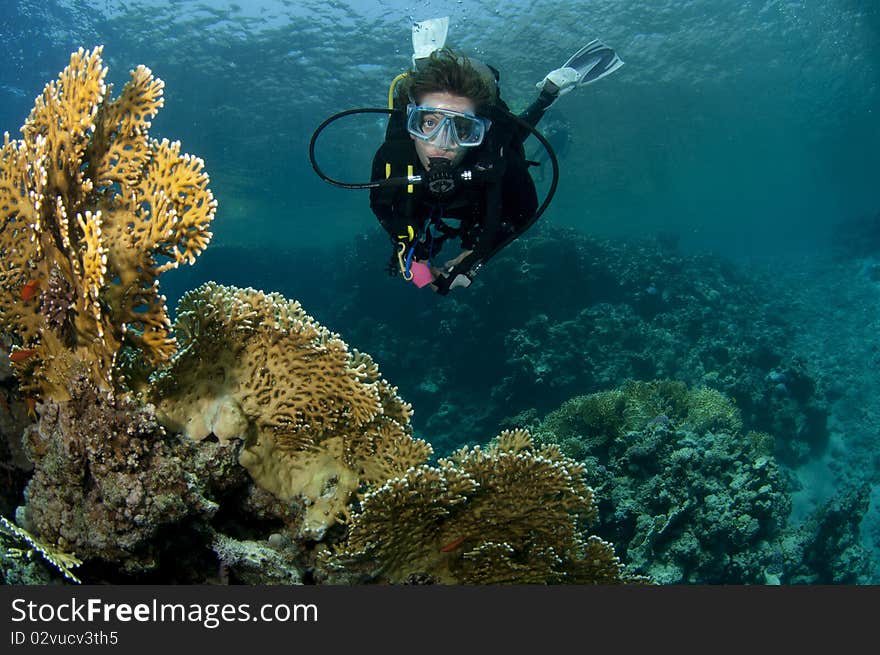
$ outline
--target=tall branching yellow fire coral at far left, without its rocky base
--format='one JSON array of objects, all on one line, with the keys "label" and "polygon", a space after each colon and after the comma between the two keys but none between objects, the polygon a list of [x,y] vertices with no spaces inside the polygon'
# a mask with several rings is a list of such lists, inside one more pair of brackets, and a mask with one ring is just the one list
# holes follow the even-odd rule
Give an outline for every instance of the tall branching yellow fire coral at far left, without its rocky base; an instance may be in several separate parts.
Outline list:
[{"label": "tall branching yellow fire coral at far left, without its rocky base", "polygon": [[216,210],[203,162],[149,138],[163,82],[139,66],[111,99],[101,51],[73,53],[0,149],[0,329],[24,390],[56,400],[74,371],[112,388],[125,343],[171,356],[158,276],[195,261]]}]

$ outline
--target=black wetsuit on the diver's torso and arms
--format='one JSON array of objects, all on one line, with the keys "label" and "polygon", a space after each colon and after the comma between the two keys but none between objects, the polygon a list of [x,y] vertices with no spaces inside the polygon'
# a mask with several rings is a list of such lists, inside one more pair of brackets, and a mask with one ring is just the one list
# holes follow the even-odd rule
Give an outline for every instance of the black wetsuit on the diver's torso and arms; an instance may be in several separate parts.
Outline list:
[{"label": "black wetsuit on the diver's torso and arms", "polygon": [[[542,94],[520,118],[535,126],[553,99]],[[506,110],[506,105],[500,104]],[[538,197],[523,148],[530,132],[503,112],[494,111],[488,117],[492,127],[485,141],[469,148],[456,170],[488,169],[491,174],[460,182],[450,196],[442,198],[423,184],[410,189],[371,189],[370,208],[395,247],[401,241],[406,242],[407,250],[414,245],[415,257],[424,260],[435,257],[445,240],[457,237],[463,249],[474,251],[457,268],[459,272],[473,271],[475,265],[488,261],[531,225]],[[405,120],[405,111],[392,113],[385,142],[373,158],[372,181],[406,176],[408,166],[414,175],[426,174]],[[409,227],[415,235],[412,242]]]}]

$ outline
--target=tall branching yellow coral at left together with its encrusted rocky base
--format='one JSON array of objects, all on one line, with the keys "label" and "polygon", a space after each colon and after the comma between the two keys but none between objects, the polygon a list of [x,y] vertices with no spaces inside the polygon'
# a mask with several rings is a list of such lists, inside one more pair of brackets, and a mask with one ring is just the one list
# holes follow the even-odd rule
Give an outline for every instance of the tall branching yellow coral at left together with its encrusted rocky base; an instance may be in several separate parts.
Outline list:
[{"label": "tall branching yellow coral at left together with its encrusted rocky base", "polygon": [[4,394],[2,425],[9,463],[33,465],[22,529],[142,571],[163,527],[216,505],[119,364],[174,351],[158,278],[205,249],[216,202],[200,159],[150,138],[162,81],[140,66],[113,99],[101,52],[73,53],[0,150],[0,336],[16,398],[39,415],[22,439]]}]

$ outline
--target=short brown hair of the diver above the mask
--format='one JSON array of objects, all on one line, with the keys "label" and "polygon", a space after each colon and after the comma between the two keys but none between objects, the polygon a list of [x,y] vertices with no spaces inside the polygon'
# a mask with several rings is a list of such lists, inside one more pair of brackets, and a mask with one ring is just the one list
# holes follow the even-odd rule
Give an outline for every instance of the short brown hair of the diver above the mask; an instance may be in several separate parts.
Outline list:
[{"label": "short brown hair of the diver above the mask", "polygon": [[405,106],[410,98],[421,103],[427,94],[442,92],[469,98],[478,112],[498,99],[498,87],[489,67],[450,48],[435,50],[428,61],[412,71],[401,82],[399,99]]}]

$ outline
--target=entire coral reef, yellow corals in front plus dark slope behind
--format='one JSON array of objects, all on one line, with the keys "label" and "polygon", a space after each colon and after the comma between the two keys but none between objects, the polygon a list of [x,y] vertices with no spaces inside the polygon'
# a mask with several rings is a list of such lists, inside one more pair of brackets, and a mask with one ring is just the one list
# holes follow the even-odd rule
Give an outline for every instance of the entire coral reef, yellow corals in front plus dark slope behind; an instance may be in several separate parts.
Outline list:
[{"label": "entire coral reef, yellow corals in front plus dark slope behind", "polygon": [[[348,343],[247,281],[182,294],[172,326],[159,276],[205,249],[216,203],[202,162],[148,135],[161,81],[139,67],[113,100],[100,55],[74,53],[0,150],[5,582],[866,579],[867,487],[785,529],[774,453],[824,449],[822,381],[716,260],[539,230],[487,269],[504,294],[440,317],[342,280],[326,324]],[[428,463],[380,361],[448,457]],[[681,381],[612,388],[656,377]],[[461,447],[505,418],[532,432]]]}]

